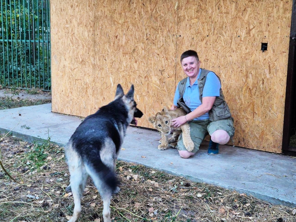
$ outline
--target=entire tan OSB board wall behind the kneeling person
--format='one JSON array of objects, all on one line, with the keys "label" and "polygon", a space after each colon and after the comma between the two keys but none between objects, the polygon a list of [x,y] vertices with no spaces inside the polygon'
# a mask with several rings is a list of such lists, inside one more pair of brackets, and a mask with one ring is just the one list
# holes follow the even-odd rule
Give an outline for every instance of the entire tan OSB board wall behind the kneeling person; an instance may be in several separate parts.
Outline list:
[{"label": "entire tan OSB board wall behind the kneeling person", "polygon": [[194,49],[222,80],[235,145],[281,152],[292,0],[50,4],[52,111],[87,116],[133,83],[139,125],[151,127],[184,78],[180,54]]}]

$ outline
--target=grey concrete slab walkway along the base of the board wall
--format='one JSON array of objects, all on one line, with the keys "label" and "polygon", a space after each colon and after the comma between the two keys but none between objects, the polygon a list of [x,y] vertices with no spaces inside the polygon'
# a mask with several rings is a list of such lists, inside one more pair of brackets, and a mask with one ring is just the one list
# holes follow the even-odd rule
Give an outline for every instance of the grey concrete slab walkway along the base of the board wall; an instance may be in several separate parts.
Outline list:
[{"label": "grey concrete slab walkway along the base of the board wall", "polygon": [[[51,104],[0,110],[0,132],[27,141],[64,145],[82,119],[51,112]],[[140,163],[194,182],[205,182],[246,193],[273,204],[296,206],[296,158],[220,145],[217,156],[207,154],[204,141],[197,154],[180,158],[176,149],[158,150],[160,135],[129,127],[119,159]]]}]

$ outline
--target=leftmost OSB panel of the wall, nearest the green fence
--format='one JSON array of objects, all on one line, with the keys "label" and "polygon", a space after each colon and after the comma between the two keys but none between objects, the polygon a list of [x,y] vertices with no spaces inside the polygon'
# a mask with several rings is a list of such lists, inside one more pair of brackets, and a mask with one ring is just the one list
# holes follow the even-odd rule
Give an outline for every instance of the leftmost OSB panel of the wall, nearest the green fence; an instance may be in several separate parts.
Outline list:
[{"label": "leftmost OSB panel of the wall, nearest the green fence", "polygon": [[89,113],[94,73],[94,1],[50,1],[52,111]]}]

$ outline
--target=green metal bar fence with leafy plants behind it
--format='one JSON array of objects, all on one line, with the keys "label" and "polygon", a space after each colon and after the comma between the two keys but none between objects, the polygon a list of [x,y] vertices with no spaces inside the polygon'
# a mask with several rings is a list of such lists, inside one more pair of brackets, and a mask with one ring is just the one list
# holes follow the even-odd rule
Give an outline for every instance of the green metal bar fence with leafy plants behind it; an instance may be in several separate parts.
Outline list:
[{"label": "green metal bar fence with leafy plants behind it", "polygon": [[0,85],[50,91],[50,1],[0,2]]}]

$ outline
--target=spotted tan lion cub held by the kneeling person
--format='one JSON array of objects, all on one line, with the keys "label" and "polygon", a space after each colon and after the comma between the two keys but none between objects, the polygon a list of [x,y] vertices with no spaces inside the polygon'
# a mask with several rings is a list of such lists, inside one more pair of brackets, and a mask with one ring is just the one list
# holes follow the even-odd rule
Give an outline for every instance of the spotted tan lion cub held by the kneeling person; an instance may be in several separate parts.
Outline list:
[{"label": "spotted tan lion cub held by the kneeling person", "polygon": [[[193,141],[190,137],[190,126],[186,122],[178,128],[171,127],[172,119],[177,118],[179,116],[184,116],[187,113],[182,108],[178,108],[176,110],[168,110],[166,107],[163,108],[162,111],[156,113],[155,116],[150,116],[148,121],[153,124],[153,127],[161,132],[160,145],[158,145],[158,149],[164,150],[167,149],[168,146],[172,146],[176,148],[178,137],[183,132],[183,143],[185,148],[191,152],[194,148]],[[171,133],[171,130],[175,130],[173,135],[168,139],[167,135]]]}]

